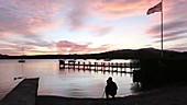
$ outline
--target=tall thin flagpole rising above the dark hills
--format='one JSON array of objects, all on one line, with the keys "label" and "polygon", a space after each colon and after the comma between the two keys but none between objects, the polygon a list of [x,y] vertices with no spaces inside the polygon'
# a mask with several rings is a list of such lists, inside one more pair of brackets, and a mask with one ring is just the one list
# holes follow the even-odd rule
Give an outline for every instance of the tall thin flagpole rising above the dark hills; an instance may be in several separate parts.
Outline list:
[{"label": "tall thin flagpole rising above the dark hills", "polygon": [[163,0],[161,1],[162,2],[162,11],[161,11],[161,57],[163,58],[163,56],[164,56],[164,46],[163,46],[163,36],[164,36],[164,34],[163,34],[163,32],[164,32],[164,23],[163,23],[163,16],[164,16],[164,13],[163,13]]}]

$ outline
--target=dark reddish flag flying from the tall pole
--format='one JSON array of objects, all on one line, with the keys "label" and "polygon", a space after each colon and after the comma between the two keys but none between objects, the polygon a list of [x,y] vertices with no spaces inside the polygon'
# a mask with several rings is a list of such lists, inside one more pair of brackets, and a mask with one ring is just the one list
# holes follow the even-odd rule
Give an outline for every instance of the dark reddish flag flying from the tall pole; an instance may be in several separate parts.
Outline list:
[{"label": "dark reddish flag flying from the tall pole", "polygon": [[150,8],[148,11],[146,12],[146,14],[148,15],[148,14],[152,14],[154,12],[162,12],[162,2],[157,3],[153,8]]}]

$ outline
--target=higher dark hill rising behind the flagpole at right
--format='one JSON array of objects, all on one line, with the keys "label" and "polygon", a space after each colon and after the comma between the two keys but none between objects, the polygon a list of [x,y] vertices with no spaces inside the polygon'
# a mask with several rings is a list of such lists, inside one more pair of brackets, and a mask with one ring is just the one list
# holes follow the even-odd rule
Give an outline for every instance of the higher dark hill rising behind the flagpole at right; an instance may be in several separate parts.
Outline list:
[{"label": "higher dark hill rising behind the flagpole at right", "polygon": [[[184,58],[186,52],[178,52],[173,50],[164,50],[165,58]],[[161,58],[161,50],[155,48],[142,48],[142,49],[121,49],[112,50],[96,56],[111,59],[140,59],[140,58]]]}]

